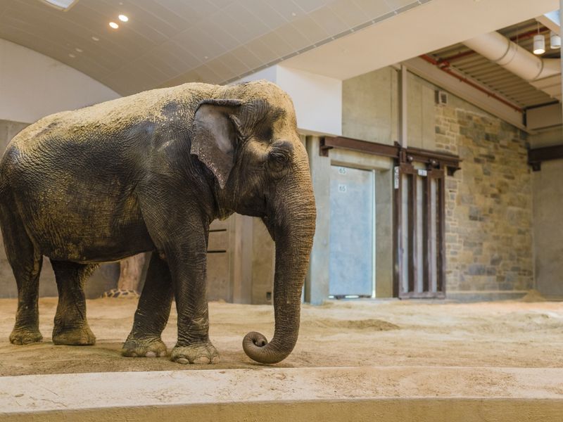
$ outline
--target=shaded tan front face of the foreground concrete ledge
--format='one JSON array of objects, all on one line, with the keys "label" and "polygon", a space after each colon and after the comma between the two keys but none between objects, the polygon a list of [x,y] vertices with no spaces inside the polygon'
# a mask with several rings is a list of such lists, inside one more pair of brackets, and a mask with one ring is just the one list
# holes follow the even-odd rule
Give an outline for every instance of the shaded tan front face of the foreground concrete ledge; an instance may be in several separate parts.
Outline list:
[{"label": "shaded tan front face of the foreground concrete ledge", "polygon": [[[522,399],[377,399],[115,407],[2,416],[2,421],[560,422],[563,405]],[[1,416],[1,414],[0,414]]]}]

